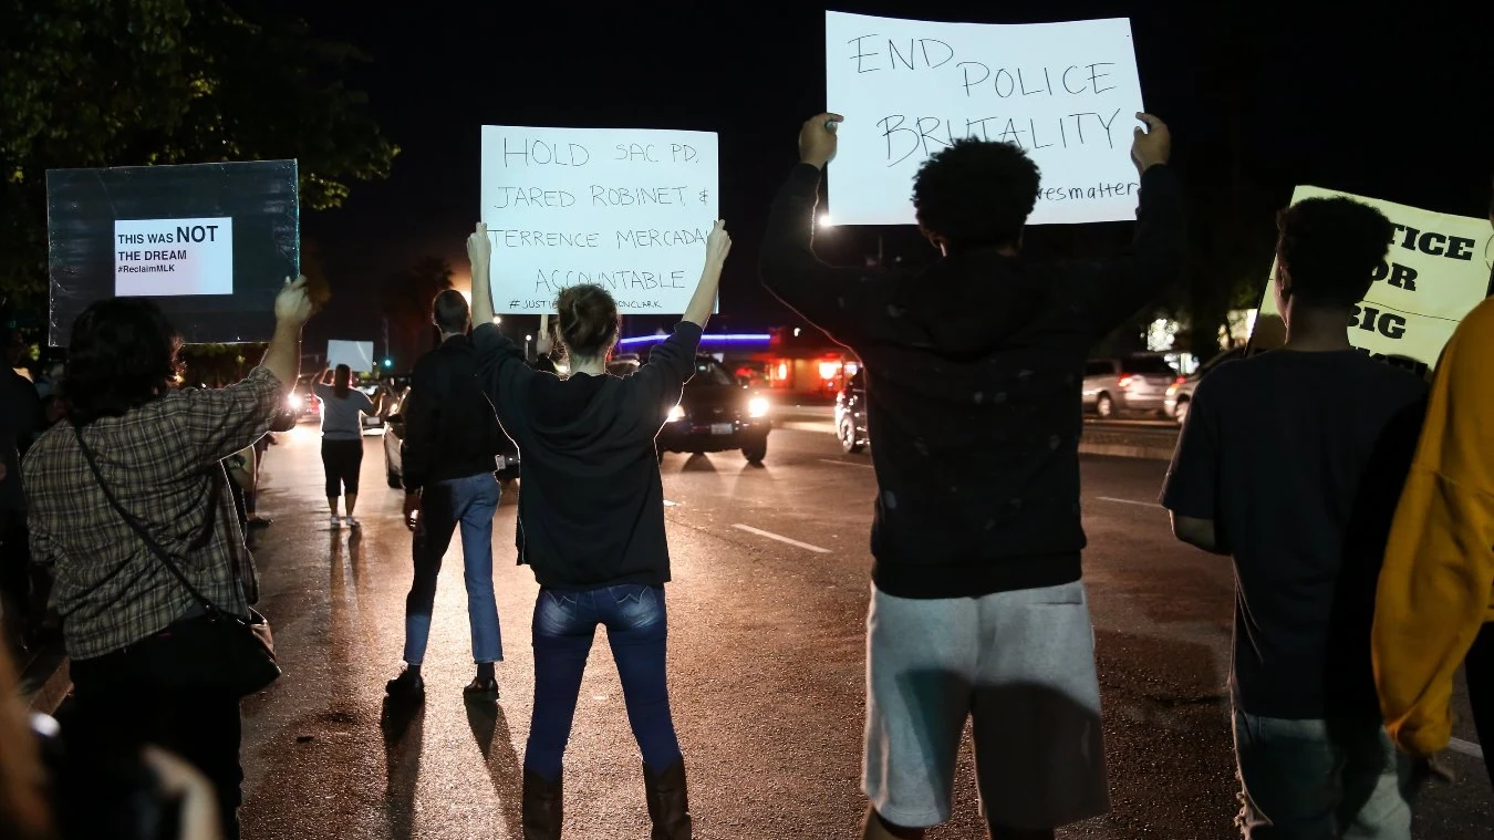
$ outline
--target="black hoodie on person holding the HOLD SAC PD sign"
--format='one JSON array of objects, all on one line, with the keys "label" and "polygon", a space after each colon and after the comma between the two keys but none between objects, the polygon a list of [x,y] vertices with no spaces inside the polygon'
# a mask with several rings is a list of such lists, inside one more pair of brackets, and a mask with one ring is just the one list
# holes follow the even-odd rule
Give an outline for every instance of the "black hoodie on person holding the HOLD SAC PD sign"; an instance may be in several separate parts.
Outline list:
[{"label": "black hoodie on person holding the HOLD SAC PD sign", "polygon": [[695,374],[701,327],[681,321],[624,378],[535,371],[493,324],[472,341],[478,381],[523,460],[518,562],[548,589],[666,583],[654,438]]}]

